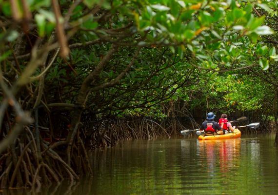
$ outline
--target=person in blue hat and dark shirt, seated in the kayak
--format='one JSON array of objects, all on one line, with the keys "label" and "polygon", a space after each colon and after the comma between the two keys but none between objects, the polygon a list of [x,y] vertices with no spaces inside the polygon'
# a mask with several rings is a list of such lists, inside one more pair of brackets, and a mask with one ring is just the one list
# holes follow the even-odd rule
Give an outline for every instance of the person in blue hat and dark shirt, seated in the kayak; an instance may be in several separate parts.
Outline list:
[{"label": "person in blue hat and dark shirt, seated in the kayak", "polygon": [[210,112],[207,114],[207,120],[204,121],[200,127],[200,131],[205,131],[205,136],[223,135],[221,126],[214,121],[215,114]]}]

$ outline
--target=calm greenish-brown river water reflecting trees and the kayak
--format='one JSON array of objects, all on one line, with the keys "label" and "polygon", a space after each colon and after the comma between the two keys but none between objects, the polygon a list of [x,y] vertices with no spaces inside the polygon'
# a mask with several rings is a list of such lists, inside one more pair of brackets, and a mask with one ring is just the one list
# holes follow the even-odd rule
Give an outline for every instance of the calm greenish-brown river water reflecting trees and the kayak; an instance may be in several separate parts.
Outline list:
[{"label": "calm greenish-brown river water reflecting trees and the kayak", "polygon": [[277,195],[274,135],[199,141],[196,138],[125,141],[91,154],[94,177],[40,194]]}]

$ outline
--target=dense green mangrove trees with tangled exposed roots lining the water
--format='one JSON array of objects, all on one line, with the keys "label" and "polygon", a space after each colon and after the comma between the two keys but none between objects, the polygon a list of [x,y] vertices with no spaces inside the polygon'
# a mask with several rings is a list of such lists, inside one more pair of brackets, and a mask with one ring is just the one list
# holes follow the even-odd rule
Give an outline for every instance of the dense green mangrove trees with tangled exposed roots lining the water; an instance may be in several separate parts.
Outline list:
[{"label": "dense green mangrove trees with tangled exposed roots lining the water", "polygon": [[0,5],[1,188],[93,176],[88,150],[178,138],[211,111],[277,128],[275,0]]}]

